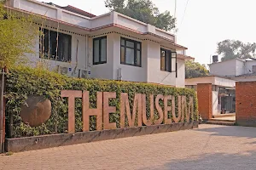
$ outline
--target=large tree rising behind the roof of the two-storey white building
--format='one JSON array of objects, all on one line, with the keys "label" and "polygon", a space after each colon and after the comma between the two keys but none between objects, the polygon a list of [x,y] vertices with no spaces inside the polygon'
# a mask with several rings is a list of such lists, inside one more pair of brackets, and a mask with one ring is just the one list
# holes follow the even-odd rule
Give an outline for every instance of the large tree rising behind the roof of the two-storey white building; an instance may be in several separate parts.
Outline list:
[{"label": "large tree rising behind the roof of the two-storey white building", "polygon": [[151,0],[106,0],[105,4],[111,11],[125,14],[160,29],[171,31],[176,28],[176,19],[170,12],[160,13]]}]

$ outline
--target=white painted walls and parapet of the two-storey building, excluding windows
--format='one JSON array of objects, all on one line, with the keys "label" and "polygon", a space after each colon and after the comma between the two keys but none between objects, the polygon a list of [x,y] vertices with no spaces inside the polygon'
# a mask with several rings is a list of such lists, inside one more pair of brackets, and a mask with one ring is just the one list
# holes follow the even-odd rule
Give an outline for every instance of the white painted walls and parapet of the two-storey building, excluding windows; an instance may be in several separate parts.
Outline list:
[{"label": "white painted walls and parapet of the two-storey building, excluding windows", "polygon": [[[63,10],[61,8],[56,8],[54,6],[40,3],[34,0],[11,0],[14,8],[20,8],[22,10],[34,13],[41,14],[46,17],[49,17],[54,20],[61,20],[75,26],[67,26],[66,28],[61,27],[64,30],[68,31],[80,31],[77,33],[82,34],[95,34],[95,29],[101,26],[110,26],[110,24],[117,24],[119,26],[124,26],[125,28],[138,31],[137,33],[133,33],[136,36],[140,36],[143,39],[156,39],[155,41],[165,41],[160,37],[166,37],[170,39],[170,41],[175,41],[175,36],[172,34],[157,29],[154,26],[147,25],[138,20],[131,19],[123,14],[118,14],[115,12],[109,14],[102,14],[101,16],[96,16],[93,18],[84,17],[79,14],[74,14],[72,12]],[[53,21],[54,23],[54,21]],[[63,24],[65,25],[65,23]],[[84,28],[90,28],[90,31],[79,30],[76,26],[81,26]],[[109,31],[109,30],[108,30]],[[131,34],[131,31],[120,30],[124,34]],[[143,33],[148,34],[151,32],[153,34],[158,35],[159,37],[147,36],[143,35]],[[66,33],[66,32],[63,32]],[[85,69],[86,65],[86,42],[85,37],[77,36],[75,34],[72,35],[72,62],[71,63],[63,63],[52,60],[47,60],[51,67],[55,65],[62,65],[67,67],[74,67],[78,64],[79,69]],[[125,36],[124,36],[125,37]],[[131,37],[128,37],[132,39]],[[79,52],[78,58],[76,61],[76,48],[77,48],[77,40],[79,40]],[[135,39],[136,40],[136,39]],[[169,42],[170,42],[169,41]],[[165,45],[167,47],[172,46],[168,41],[166,41]],[[30,59],[35,59],[34,63],[39,59],[39,42],[35,43],[35,54],[30,54]],[[173,47],[173,46],[172,46]],[[125,81],[132,82],[155,82],[166,85],[175,86],[177,82],[178,87],[183,87],[184,83],[184,65],[183,61],[178,59],[177,67],[178,67],[178,78],[176,78],[175,72],[167,72],[160,71],[160,43],[152,42],[149,40],[145,40],[142,42],[142,67],[131,66],[131,65],[121,65],[120,64],[120,36],[119,34],[111,33],[107,36],[107,64],[101,65],[93,65],[92,62],[92,38],[89,38],[89,71],[91,73],[91,77],[102,78],[102,79],[117,79],[118,69],[121,68],[122,77]]]}]

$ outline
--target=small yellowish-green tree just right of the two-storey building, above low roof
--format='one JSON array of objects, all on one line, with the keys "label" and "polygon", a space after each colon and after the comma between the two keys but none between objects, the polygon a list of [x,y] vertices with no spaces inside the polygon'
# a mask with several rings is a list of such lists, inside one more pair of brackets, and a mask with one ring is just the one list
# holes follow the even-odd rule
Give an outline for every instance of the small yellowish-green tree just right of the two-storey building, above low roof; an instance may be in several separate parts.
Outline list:
[{"label": "small yellowish-green tree just right of the two-storey building, above low roof", "polygon": [[209,74],[206,65],[201,65],[195,61],[186,61],[185,75],[186,78],[206,77]]}]

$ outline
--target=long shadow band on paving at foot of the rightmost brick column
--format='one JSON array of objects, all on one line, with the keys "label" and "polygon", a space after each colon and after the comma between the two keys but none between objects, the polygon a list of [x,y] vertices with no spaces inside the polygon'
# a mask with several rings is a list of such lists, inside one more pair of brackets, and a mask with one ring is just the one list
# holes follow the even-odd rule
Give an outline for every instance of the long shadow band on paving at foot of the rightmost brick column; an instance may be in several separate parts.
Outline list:
[{"label": "long shadow band on paving at foot of the rightmost brick column", "polygon": [[[220,126],[193,129],[193,131],[207,132],[214,136],[233,136],[253,139],[256,138],[255,127]],[[255,168],[256,169],[256,168]]]}]

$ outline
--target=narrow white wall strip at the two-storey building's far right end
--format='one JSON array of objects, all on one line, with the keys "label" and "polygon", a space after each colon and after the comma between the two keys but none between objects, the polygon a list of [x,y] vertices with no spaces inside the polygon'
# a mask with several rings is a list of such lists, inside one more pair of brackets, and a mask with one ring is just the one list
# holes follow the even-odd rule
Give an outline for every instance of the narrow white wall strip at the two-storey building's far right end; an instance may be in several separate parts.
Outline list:
[{"label": "narrow white wall strip at the two-storey building's far right end", "polygon": [[185,87],[185,61],[183,59],[177,59],[176,87]]}]

